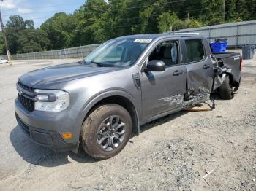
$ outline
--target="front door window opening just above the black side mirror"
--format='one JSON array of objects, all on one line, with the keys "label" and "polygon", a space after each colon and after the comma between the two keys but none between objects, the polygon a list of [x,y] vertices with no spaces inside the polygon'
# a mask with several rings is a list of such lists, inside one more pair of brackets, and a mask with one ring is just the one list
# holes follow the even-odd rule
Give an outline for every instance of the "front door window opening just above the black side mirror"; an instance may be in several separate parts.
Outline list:
[{"label": "front door window opening just above the black side mirror", "polygon": [[149,55],[148,61],[160,60],[165,66],[178,64],[178,42],[163,42],[159,44]]}]

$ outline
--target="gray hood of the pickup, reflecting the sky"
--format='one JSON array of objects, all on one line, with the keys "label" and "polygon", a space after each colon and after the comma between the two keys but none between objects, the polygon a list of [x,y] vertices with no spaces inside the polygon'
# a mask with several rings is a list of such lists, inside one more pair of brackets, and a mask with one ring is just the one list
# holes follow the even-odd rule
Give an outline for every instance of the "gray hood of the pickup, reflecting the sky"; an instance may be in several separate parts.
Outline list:
[{"label": "gray hood of the pickup, reflecting the sky", "polygon": [[80,63],[67,63],[30,71],[21,76],[19,80],[23,84],[34,88],[57,88],[62,83],[74,79],[91,77],[118,70],[120,69],[113,67],[93,67]]}]

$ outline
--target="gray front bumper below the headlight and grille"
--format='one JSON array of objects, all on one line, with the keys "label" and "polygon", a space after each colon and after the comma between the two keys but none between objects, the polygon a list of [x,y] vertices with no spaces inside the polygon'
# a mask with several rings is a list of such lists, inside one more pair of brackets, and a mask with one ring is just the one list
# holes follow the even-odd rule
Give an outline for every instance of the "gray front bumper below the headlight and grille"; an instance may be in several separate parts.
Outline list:
[{"label": "gray front bumper below the headlight and grille", "polygon": [[[42,114],[42,115],[39,115]],[[61,126],[65,123],[59,117],[47,117],[43,115],[43,112],[35,114],[26,112],[26,109],[16,99],[15,101],[15,117],[21,130],[29,137],[32,141],[45,147],[49,147],[56,152],[65,151],[78,151],[79,141],[66,140],[61,137],[61,133],[72,132],[66,126]],[[67,118],[67,117],[66,117]],[[66,123],[69,124],[69,123]],[[44,126],[45,125],[45,126]],[[67,129],[69,129],[67,131]],[[73,132],[72,132],[73,133]],[[74,132],[74,134],[77,134]]]}]

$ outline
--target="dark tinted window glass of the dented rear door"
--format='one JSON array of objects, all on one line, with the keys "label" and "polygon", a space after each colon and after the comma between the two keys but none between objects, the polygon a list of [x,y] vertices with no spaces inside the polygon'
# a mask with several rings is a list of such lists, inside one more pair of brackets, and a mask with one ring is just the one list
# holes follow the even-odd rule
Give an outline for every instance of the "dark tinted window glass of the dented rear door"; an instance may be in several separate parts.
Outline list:
[{"label": "dark tinted window glass of the dented rear door", "polygon": [[201,61],[205,58],[203,42],[200,39],[186,40],[188,63]]}]

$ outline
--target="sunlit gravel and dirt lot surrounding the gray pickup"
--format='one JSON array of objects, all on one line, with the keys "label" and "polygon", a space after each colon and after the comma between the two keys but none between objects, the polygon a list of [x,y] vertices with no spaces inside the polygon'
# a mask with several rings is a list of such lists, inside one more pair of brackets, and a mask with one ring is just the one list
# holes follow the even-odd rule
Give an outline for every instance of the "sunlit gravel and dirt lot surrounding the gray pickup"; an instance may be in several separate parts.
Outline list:
[{"label": "sunlit gravel and dirt lot surrounding the gray pickup", "polygon": [[0,190],[256,190],[256,60],[244,61],[233,100],[143,125],[121,154],[103,161],[40,147],[15,121],[18,77],[63,62],[0,65]]}]

